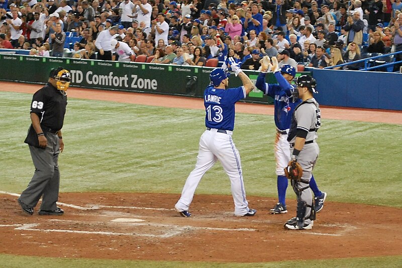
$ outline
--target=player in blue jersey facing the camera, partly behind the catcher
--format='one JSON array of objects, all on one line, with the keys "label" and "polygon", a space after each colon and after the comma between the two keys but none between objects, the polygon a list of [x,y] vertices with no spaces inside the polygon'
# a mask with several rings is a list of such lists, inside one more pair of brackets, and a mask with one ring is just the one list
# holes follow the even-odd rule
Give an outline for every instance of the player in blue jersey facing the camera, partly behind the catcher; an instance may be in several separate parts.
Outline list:
[{"label": "player in blue jersey facing the camera, partly behind the catcher", "polygon": [[[268,68],[274,72],[274,76],[278,81],[277,84],[268,84],[265,82],[265,74]],[[284,173],[284,168],[290,161],[290,145],[287,141],[290,123],[294,109],[302,100],[296,96],[297,89],[290,84],[296,74],[294,67],[285,64],[282,65],[280,72],[278,69],[278,61],[272,57],[272,64],[268,56],[265,56],[261,65],[261,72],[258,75],[256,86],[257,88],[274,100],[274,118],[276,125],[275,137],[275,159],[276,159],[276,175],[278,189],[278,203],[270,210],[271,214],[287,213],[285,197],[288,185],[287,178]],[[324,207],[324,201],[327,198],[327,193],[321,192],[317,186],[314,176],[310,181],[310,188],[314,192],[315,210],[319,212]]]}]

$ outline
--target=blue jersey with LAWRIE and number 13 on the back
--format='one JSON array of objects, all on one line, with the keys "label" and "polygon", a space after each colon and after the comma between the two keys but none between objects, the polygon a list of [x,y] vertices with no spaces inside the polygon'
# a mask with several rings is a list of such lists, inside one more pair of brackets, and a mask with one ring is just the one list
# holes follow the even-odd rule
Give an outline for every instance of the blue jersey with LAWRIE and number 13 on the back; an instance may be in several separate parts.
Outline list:
[{"label": "blue jersey with LAWRIE and number 13 on the back", "polygon": [[208,128],[231,130],[235,126],[235,104],[246,98],[244,86],[223,90],[207,86],[204,92],[205,125]]}]

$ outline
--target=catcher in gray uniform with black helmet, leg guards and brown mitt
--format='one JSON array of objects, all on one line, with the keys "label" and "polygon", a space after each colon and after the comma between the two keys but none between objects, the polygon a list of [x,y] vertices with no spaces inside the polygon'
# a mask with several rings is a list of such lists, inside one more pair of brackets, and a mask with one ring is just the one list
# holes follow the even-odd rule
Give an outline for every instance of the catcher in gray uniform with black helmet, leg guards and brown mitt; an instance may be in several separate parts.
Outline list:
[{"label": "catcher in gray uniform with black helmet, leg guards and brown mitt", "polygon": [[297,78],[297,96],[302,99],[294,110],[287,140],[292,150],[291,160],[285,167],[285,175],[290,180],[297,197],[296,217],[288,220],[285,229],[298,230],[313,228],[316,213],[310,191],[312,171],[316,164],[320,148],[316,142],[317,131],[321,126],[320,108],[313,94],[316,80],[310,75]]}]

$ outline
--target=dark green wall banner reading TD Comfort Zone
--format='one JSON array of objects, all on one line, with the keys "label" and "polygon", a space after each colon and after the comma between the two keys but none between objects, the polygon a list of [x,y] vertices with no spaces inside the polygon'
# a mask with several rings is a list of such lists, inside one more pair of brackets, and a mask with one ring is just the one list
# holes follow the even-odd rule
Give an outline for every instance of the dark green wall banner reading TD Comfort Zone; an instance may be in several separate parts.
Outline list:
[{"label": "dark green wall banner reading TD Comfort Zone", "polygon": [[[1,80],[44,83],[51,68],[62,66],[71,72],[72,86],[194,97],[204,95],[204,90],[210,83],[210,72],[213,70],[210,67],[26,55],[0,55],[0,63],[2,66],[8,66],[0,73]],[[246,73],[255,82],[258,73]],[[272,77],[269,79],[272,80]],[[230,77],[230,87],[241,84],[239,77],[234,74]],[[272,103],[271,98],[263,96],[257,89],[246,100]]]}]

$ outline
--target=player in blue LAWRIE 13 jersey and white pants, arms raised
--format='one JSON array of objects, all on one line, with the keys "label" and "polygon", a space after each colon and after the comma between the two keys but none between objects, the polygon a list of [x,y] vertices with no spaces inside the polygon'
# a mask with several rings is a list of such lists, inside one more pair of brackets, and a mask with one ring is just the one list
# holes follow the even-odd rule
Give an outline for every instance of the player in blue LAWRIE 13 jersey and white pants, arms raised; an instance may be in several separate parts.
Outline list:
[{"label": "player in blue LAWRIE 13 jersey and white pants, arms raised", "polygon": [[232,140],[235,124],[235,104],[246,98],[254,84],[240,69],[239,64],[230,59],[231,68],[239,75],[243,85],[236,88],[227,88],[230,73],[223,68],[215,68],[211,74],[211,84],[204,92],[204,106],[206,111],[205,125],[207,130],[199,139],[199,148],[195,168],[188,175],[181,197],[174,206],[183,217],[190,217],[188,207],[191,204],[195,189],[199,181],[217,160],[230,178],[235,216],[254,216],[257,212],[250,209],[246,199],[243,183],[243,172],[239,151]]}]

